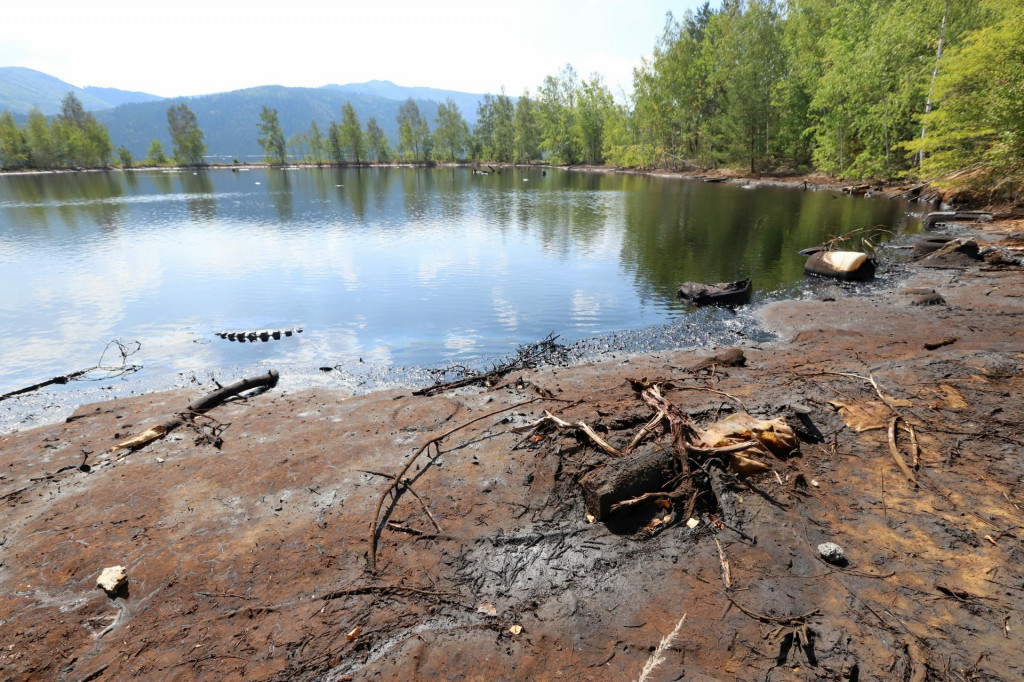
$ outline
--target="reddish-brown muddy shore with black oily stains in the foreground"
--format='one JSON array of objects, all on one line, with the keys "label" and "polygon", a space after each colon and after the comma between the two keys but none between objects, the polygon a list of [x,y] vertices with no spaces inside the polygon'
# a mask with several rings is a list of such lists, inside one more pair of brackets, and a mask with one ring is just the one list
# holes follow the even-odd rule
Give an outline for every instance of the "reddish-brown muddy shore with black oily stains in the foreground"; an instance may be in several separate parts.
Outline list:
[{"label": "reddish-brown muddy shore with black oily stains in the foreground", "polygon": [[[667,352],[435,397],[273,389],[211,413],[219,450],[182,428],[105,454],[200,390],[8,434],[0,677],[636,680],[659,653],[648,680],[1020,680],[1024,270],[923,265],[897,291],[769,306],[782,340],[740,368]],[[912,305],[919,288],[945,304]],[[784,416],[800,453],[702,498],[692,529],[682,504],[590,523],[578,480],[613,462],[579,432],[510,429],[549,410],[621,446],[652,414],[627,377],[671,379],[699,424]],[[887,425],[868,378],[914,426],[916,486],[884,428],[829,404]],[[385,500],[372,572],[381,474],[484,415]]]}]

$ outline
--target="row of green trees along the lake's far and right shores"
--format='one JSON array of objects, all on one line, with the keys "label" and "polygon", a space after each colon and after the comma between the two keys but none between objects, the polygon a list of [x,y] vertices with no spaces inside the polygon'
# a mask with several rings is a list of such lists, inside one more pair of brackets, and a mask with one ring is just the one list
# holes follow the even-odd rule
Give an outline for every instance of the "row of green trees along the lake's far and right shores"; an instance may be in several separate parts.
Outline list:
[{"label": "row of green trees along the lake's far and right shores", "polygon": [[[722,0],[668,15],[629,101],[571,66],[534,96],[487,94],[467,125],[447,99],[431,122],[410,98],[397,139],[351,103],[322,130],[286,138],[260,113],[266,161],[490,161],[819,170],[841,177],[936,177],[990,185],[1024,176],[1024,0]],[[203,163],[184,103],[168,110],[173,162]],[[392,147],[392,142],[394,146]],[[5,168],[110,163],[105,128],[73,95],[25,126],[0,116]],[[123,165],[131,165],[119,150]],[[158,140],[152,164],[170,163]]]}]

